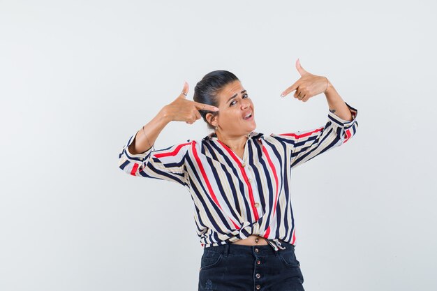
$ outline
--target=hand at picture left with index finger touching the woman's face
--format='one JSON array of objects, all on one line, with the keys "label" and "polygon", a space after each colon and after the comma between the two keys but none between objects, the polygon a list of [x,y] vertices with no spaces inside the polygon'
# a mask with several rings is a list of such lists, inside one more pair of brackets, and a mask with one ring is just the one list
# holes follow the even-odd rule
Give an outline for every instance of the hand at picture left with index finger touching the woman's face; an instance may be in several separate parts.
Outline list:
[{"label": "hand at picture left with index finger touching the woman's face", "polygon": [[196,120],[202,118],[198,110],[218,111],[218,108],[212,105],[198,103],[186,99],[188,94],[188,83],[184,83],[182,93],[172,103],[165,105],[165,115],[171,121],[185,121],[187,124],[193,124]]}]

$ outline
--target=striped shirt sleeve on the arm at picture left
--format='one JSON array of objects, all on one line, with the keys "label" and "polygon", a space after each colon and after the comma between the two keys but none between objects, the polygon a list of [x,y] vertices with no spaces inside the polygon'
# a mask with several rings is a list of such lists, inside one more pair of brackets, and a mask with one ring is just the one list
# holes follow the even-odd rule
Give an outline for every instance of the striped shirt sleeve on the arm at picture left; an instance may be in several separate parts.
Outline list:
[{"label": "striped shirt sleeve on the arm at picture left", "polygon": [[128,147],[134,138],[135,135],[132,135],[121,149],[119,154],[119,168],[121,170],[133,176],[162,179],[174,181],[184,186],[188,185],[185,156],[191,146],[189,140],[166,149],[156,150],[151,147],[141,154],[131,154]]}]

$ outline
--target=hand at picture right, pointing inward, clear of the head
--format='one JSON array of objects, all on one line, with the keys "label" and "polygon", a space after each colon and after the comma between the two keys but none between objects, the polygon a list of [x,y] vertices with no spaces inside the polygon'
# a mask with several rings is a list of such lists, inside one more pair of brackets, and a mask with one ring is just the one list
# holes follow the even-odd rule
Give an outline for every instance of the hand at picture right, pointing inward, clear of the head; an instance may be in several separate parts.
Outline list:
[{"label": "hand at picture right, pointing inward, clear of the head", "polygon": [[295,84],[292,84],[291,87],[288,87],[286,91],[283,91],[281,97],[284,97],[296,90],[295,98],[306,102],[309,98],[326,91],[327,86],[329,85],[329,81],[326,77],[316,76],[308,73],[300,65],[299,59],[296,61],[296,68],[300,74],[300,79],[297,80]]}]

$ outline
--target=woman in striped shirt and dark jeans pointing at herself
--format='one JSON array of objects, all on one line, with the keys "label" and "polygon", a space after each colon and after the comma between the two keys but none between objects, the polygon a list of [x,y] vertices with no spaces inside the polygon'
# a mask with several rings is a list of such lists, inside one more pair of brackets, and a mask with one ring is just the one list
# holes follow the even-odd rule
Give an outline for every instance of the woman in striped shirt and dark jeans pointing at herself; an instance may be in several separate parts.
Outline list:
[{"label": "woman in striped shirt and dark jeans pointing at herself", "polygon": [[[291,169],[337,147],[357,130],[357,110],[326,77],[306,72],[281,96],[295,91],[306,102],[324,93],[325,126],[297,133],[255,131],[255,108],[238,78],[213,71],[187,100],[188,84],[172,103],[129,138],[119,155],[128,174],[175,181],[191,193],[195,225],[204,248],[199,290],[304,290],[295,256]],[[170,121],[203,118],[214,132],[167,149],[154,142]]]}]

